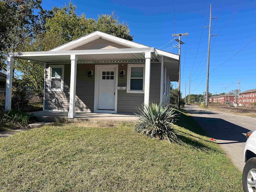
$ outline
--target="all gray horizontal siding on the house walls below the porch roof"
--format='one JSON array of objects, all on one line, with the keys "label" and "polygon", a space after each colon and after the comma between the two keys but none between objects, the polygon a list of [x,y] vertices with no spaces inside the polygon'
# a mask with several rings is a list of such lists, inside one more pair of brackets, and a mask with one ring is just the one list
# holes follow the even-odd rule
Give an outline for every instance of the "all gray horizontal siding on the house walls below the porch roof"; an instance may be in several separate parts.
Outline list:
[{"label": "all gray horizontal siding on the house walls below the porch roof", "polygon": [[[121,66],[124,65],[124,66]],[[46,65],[46,90],[45,110],[68,111],[70,98],[70,64],[64,64],[64,92],[48,91],[48,67]],[[92,77],[87,77],[89,70],[93,71]],[[120,70],[125,70],[124,77],[120,77]],[[151,64],[150,73],[150,101],[160,100],[160,63]],[[77,64],[76,79],[76,111],[94,112],[94,64]],[[127,64],[118,65],[118,86],[127,85]],[[56,103],[52,102],[56,99]],[[126,93],[126,90],[118,90],[117,112],[133,114],[136,106],[144,102],[144,93]]]}]

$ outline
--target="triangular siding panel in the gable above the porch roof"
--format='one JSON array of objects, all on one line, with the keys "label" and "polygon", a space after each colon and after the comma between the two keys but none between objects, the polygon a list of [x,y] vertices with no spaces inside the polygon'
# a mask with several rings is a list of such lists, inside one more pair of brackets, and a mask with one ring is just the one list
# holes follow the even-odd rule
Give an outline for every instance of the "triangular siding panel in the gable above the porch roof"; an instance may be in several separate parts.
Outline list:
[{"label": "triangular siding panel in the gable above the porch roof", "polygon": [[130,48],[130,47],[123,46],[108,40],[104,40],[102,38],[98,38],[92,42],[78,46],[71,50],[117,49],[117,48]]}]

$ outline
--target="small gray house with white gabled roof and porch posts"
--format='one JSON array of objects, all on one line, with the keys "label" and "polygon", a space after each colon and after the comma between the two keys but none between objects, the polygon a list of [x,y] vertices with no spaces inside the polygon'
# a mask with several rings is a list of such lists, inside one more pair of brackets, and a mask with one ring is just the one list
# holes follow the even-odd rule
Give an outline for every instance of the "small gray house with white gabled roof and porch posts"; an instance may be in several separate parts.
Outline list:
[{"label": "small gray house with white gabled roof and porch posts", "polygon": [[9,53],[6,110],[14,58],[44,66],[44,110],[68,111],[68,118],[169,103],[170,81],[178,81],[178,55],[96,31],[50,51]]}]

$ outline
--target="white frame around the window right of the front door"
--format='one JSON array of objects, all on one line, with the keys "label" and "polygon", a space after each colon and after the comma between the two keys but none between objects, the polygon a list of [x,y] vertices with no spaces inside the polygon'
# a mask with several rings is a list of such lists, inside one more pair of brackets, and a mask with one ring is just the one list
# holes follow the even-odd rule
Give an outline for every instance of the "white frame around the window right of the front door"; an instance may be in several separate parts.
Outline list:
[{"label": "white frame around the window right of the front door", "polygon": [[[143,86],[142,90],[130,90],[131,85],[131,68],[132,67],[143,67]],[[139,79],[139,78],[134,78]],[[127,89],[126,93],[144,93],[144,87],[145,87],[145,64],[128,64],[127,65]]]}]

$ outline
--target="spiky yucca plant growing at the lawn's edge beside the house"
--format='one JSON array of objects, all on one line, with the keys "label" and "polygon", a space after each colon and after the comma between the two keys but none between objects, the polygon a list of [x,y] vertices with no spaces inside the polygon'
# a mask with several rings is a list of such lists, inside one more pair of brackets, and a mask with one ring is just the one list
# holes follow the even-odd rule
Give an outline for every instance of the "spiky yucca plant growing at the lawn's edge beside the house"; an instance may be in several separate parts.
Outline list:
[{"label": "spiky yucca plant growing at the lawn's edge beside the house", "polygon": [[168,140],[169,142],[178,142],[178,136],[174,130],[173,122],[176,114],[170,104],[164,105],[150,102],[142,104],[136,108],[138,113],[138,122],[135,130],[140,134],[145,134],[152,138]]}]

